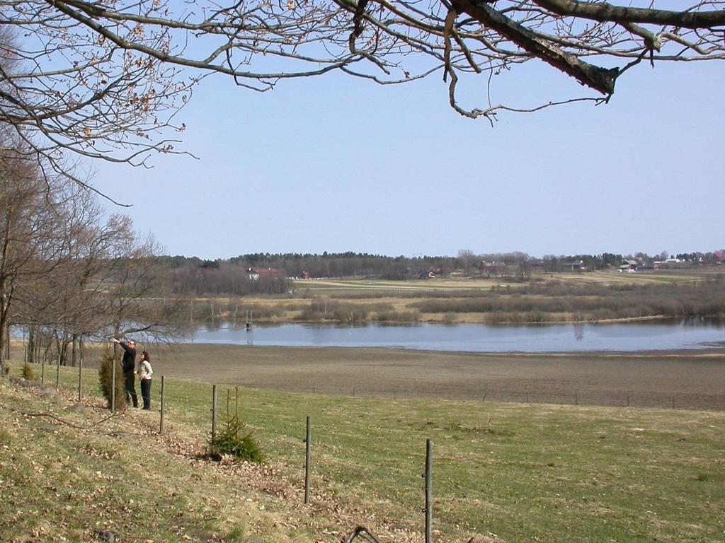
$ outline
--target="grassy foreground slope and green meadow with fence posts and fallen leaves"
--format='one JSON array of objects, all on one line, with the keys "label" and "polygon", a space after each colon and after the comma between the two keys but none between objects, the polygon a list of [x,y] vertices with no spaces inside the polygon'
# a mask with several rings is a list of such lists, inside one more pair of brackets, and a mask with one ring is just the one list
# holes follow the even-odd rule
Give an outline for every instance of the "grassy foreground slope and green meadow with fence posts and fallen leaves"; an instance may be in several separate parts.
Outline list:
[{"label": "grassy foreground slope and green meadow with fence posts and fallen leaves", "polygon": [[[72,387],[75,374],[62,381]],[[260,470],[194,458],[209,429],[207,385],[167,382],[165,439],[157,413],[91,427],[106,415],[97,399],[83,413],[67,405],[0,384],[1,541],[94,541],[111,529],[123,541],[334,542],[357,523],[385,541],[422,541],[427,437],[439,541],[725,539],[725,413],[244,389],[241,416],[270,459]],[[21,414],[41,411],[86,430]],[[305,415],[311,508],[299,505]]]}]

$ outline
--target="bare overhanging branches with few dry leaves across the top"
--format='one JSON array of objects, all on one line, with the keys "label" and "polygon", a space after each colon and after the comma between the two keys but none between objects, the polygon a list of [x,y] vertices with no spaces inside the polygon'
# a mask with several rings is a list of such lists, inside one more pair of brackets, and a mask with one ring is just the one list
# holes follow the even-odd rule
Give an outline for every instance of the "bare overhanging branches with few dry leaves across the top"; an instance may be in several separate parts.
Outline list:
[{"label": "bare overhanging branches with few dry leaves across the top", "polygon": [[[642,61],[723,59],[724,3],[0,0],[0,122],[51,164],[62,149],[143,164],[149,151],[175,152],[174,132],[184,129],[175,112],[214,72],[259,91],[333,71],[381,84],[437,74],[456,111],[489,120],[598,103]],[[534,59],[589,90],[526,108],[490,95],[460,104],[468,75],[490,84]]]}]

